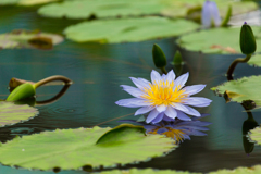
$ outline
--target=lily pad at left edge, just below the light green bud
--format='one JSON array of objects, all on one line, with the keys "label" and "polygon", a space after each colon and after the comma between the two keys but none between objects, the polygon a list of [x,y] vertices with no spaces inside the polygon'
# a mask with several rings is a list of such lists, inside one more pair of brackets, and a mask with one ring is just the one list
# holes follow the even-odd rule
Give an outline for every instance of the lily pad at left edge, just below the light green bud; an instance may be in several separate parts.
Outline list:
[{"label": "lily pad at left edge, just below the light green bud", "polygon": [[0,101],[0,126],[2,127],[28,121],[38,113],[36,108],[27,104],[17,105],[13,102]]}]

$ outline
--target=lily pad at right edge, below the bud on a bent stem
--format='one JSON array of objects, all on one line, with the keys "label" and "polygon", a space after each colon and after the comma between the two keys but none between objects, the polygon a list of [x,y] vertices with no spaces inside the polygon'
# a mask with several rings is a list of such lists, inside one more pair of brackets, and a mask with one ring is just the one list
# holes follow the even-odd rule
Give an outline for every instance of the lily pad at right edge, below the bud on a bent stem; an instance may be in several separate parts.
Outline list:
[{"label": "lily pad at right edge, below the bud on a bent stem", "polygon": [[261,76],[243,77],[236,80],[229,80],[222,85],[211,88],[217,94],[226,96],[236,102],[253,101],[257,107],[261,107]]}]

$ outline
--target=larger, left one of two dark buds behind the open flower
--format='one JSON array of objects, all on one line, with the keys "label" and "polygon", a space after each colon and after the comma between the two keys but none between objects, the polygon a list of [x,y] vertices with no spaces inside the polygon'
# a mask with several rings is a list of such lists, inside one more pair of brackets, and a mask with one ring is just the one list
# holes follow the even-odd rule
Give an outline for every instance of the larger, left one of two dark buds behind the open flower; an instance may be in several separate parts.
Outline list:
[{"label": "larger, left one of two dark buds behind the open flower", "polygon": [[166,65],[166,58],[160,46],[153,45],[152,57],[156,67],[164,67]]}]

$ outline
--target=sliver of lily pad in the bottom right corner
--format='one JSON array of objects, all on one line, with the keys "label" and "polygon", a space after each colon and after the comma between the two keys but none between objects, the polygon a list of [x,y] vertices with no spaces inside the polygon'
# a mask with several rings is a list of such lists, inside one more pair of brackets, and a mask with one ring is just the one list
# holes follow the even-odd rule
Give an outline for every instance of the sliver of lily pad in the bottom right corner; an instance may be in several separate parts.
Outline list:
[{"label": "sliver of lily pad in the bottom right corner", "polygon": [[219,170],[210,172],[209,174],[259,174],[261,173],[261,165],[254,165],[251,167],[237,167],[235,170]]}]

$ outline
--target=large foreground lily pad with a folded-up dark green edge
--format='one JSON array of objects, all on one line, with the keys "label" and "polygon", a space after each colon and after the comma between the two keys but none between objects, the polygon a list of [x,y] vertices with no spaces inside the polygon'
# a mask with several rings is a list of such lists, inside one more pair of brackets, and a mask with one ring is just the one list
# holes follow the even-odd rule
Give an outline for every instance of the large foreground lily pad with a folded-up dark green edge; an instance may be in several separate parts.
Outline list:
[{"label": "large foreground lily pad with a folded-up dark green edge", "polygon": [[[107,133],[108,130],[110,132]],[[128,136],[132,138],[126,138]],[[103,140],[97,142],[99,138]],[[113,166],[116,163],[144,161],[162,156],[174,147],[176,145],[170,138],[160,135],[145,136],[140,126],[57,129],[23,136],[3,144],[0,148],[0,162],[26,169],[76,170],[86,165]]]}]

